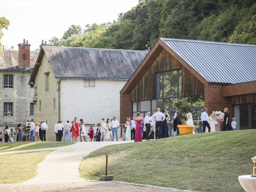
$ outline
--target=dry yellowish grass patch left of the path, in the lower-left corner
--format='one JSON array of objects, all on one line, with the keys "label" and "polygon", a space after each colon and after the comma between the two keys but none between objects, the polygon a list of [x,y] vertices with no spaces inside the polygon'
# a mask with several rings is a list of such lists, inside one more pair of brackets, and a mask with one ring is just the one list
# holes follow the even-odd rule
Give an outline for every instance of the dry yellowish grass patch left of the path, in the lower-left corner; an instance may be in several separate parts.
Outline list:
[{"label": "dry yellowish grass patch left of the path, in the lower-left corner", "polygon": [[36,176],[37,165],[50,150],[0,156],[0,184],[26,181]]}]

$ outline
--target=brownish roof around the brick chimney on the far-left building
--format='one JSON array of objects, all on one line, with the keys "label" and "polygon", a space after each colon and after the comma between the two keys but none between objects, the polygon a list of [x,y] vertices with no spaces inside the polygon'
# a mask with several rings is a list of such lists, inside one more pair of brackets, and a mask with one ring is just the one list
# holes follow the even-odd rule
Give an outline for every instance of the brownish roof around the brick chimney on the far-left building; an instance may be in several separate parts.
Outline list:
[{"label": "brownish roof around the brick chimney on the far-left building", "polygon": [[36,59],[38,57],[38,51],[30,51],[30,68],[20,68],[18,67],[18,51],[14,50],[3,50],[4,56],[0,56],[0,70],[21,70],[21,71],[32,71]]}]

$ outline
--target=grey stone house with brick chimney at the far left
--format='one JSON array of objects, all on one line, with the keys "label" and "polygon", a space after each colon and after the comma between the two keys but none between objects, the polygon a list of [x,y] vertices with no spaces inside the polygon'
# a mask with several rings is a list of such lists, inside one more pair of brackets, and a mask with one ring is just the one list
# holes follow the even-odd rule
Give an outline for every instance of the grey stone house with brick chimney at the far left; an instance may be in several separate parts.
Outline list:
[{"label": "grey stone house with brick chimney at the far left", "polygon": [[0,131],[8,125],[25,125],[34,118],[34,87],[28,84],[39,52],[30,51],[28,41],[18,44],[18,51],[3,50],[0,56]]}]

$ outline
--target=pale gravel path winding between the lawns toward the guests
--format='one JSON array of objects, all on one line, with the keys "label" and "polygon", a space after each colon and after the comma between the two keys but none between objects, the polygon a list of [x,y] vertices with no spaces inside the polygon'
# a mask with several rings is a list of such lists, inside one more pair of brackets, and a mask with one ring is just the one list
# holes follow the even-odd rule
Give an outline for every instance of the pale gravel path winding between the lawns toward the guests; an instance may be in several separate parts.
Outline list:
[{"label": "pale gravel path winding between the lawns toward the guests", "polygon": [[[55,150],[48,154],[44,161],[38,164],[38,173],[35,178],[22,183],[0,184],[0,191],[4,192],[189,192],[174,188],[137,185],[126,182],[86,181],[79,176],[79,166],[84,156],[103,146],[120,144],[119,142],[78,142],[74,145],[58,148],[37,150],[22,150],[19,153],[41,150]],[[134,141],[128,141],[134,142]],[[12,154],[17,152],[4,152]]]}]

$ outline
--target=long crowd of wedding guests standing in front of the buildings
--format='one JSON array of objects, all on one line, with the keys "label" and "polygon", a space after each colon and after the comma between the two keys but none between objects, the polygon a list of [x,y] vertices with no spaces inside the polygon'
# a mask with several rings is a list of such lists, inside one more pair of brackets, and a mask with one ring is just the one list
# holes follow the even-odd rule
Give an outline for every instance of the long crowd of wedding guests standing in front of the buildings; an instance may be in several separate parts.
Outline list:
[{"label": "long crowd of wedding guests standing in front of the buildings", "polygon": [[[179,134],[178,125],[182,124],[179,113],[179,109],[176,108],[173,117],[173,130],[176,134]],[[160,111],[160,108],[157,108],[157,112],[153,113],[152,116],[148,111],[144,118],[139,112],[136,115],[137,117],[133,116],[132,120],[130,117],[126,118],[125,126],[122,130],[122,140],[139,142],[144,139],[150,140],[169,137],[169,120],[171,118],[167,110]],[[211,127],[207,108],[204,108],[201,114],[201,120],[203,132],[206,131],[206,127],[208,128],[208,132],[210,132]],[[221,122],[223,122],[222,131],[236,130],[236,118],[232,118],[232,122],[230,122],[228,108],[224,108],[223,117],[220,116],[220,113],[216,115],[214,121],[215,131],[220,131]],[[186,124],[193,124],[191,109],[187,114]],[[58,121],[54,126],[54,132],[56,134],[56,141],[62,141],[63,133],[64,142],[78,142],[78,137],[80,137],[80,141],[86,141],[86,134],[89,136],[90,141],[114,141],[114,136],[116,136],[116,141],[118,141],[118,128],[120,128],[120,124],[114,116],[112,119],[103,118],[102,122],[96,124],[95,127],[90,125],[90,128],[86,132],[83,119],[80,119],[80,123],[78,123],[77,117],[75,117],[71,124],[69,120],[64,125],[62,125],[61,121]],[[25,126],[25,137],[22,135],[22,130],[21,124],[15,127],[13,134],[16,135],[16,141],[46,141],[48,126],[44,120],[36,124],[33,119],[31,121],[28,120]],[[4,129],[4,134],[0,132],[0,143],[11,142],[11,135],[12,131],[7,125]]]}]

